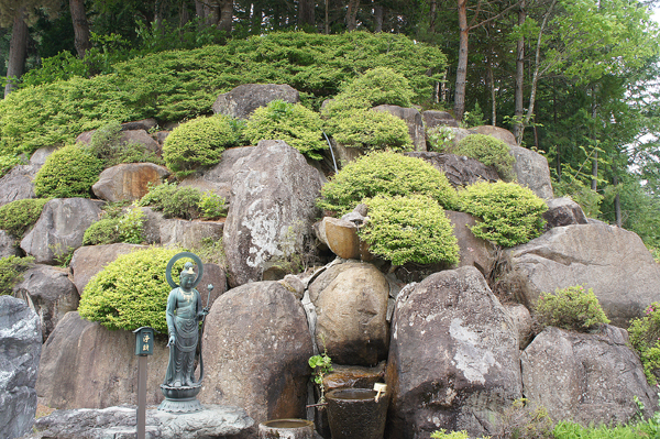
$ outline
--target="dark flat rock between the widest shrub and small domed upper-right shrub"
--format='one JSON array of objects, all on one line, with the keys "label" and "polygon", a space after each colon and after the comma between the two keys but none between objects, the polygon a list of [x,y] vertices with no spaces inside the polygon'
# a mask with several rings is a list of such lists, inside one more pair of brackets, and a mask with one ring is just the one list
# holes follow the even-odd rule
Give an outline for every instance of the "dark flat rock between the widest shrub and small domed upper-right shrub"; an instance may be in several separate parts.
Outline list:
[{"label": "dark flat rock between the widest shrub and small domed upper-right shrub", "polygon": [[464,187],[476,182],[497,182],[499,179],[493,166],[486,166],[475,158],[432,152],[410,152],[405,153],[405,155],[430,163],[436,169],[444,173],[453,187]]}]

